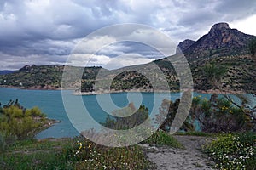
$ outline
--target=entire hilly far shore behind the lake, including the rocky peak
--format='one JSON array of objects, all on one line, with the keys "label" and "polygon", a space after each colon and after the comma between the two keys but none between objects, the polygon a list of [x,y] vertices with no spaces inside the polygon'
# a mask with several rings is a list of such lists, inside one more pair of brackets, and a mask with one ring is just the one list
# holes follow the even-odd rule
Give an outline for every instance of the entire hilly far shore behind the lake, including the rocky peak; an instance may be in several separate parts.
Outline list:
[{"label": "entire hilly far shore behind the lake, including the rocky peak", "polygon": [[[248,42],[253,38],[255,37],[231,29],[227,23],[218,23],[197,41],[187,39],[180,42],[176,55],[183,52],[188,59],[195,90],[212,90],[212,84],[204,74],[204,66],[214,63],[226,69],[220,81],[221,88],[227,92],[246,90],[251,93],[256,90],[256,63],[247,47]],[[168,58],[172,59],[173,56]],[[63,68],[64,66],[55,65],[26,65],[19,71],[0,75],[0,85],[37,89],[61,88]],[[64,88],[73,88],[81,92],[108,92],[109,87],[111,91],[150,92],[153,88],[158,91],[167,90],[164,79],[167,79],[170,90],[179,90],[177,73],[168,59],[158,59],[148,64],[133,65],[113,71],[102,67],[88,67],[84,69],[82,80],[73,80],[73,77],[76,77],[77,71],[83,68],[67,66],[67,69],[70,70],[70,75],[68,83],[64,83]],[[101,74],[97,75],[99,71]],[[80,82],[82,82],[81,88],[79,88]]]}]

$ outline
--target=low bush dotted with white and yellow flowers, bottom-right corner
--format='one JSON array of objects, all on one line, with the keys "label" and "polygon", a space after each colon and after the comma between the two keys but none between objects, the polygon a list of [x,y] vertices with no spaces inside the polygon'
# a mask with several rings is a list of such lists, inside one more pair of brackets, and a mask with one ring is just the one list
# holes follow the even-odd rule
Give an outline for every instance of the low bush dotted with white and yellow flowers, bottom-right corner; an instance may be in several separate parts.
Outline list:
[{"label": "low bush dotted with white and yellow flowers, bottom-right corner", "polygon": [[221,134],[204,146],[204,150],[216,162],[219,169],[255,169],[256,134]]}]

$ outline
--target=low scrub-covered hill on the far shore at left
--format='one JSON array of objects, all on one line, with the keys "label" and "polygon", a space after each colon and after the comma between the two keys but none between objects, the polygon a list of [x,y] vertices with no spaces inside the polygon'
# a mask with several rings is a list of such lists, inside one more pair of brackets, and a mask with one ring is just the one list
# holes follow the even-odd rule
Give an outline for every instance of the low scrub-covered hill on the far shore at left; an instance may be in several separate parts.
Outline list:
[{"label": "low scrub-covered hill on the far shore at left", "polygon": [[[76,77],[78,71],[83,72],[83,79],[93,80],[97,71],[102,67],[74,67],[66,66],[70,70],[70,78]],[[0,75],[0,86],[10,86],[29,89],[58,89],[61,88],[61,78],[64,65],[25,65],[19,71],[7,75]],[[69,81],[69,80],[67,80]],[[72,86],[77,87],[79,82]]]}]

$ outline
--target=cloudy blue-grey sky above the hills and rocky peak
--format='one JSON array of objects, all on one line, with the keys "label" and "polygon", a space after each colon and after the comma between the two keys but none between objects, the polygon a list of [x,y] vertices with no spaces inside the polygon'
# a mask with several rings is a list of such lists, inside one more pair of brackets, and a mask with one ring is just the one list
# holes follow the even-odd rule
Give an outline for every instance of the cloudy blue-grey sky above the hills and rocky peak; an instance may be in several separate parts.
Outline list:
[{"label": "cloudy blue-grey sky above the hills and rocky peak", "polygon": [[[84,44],[83,54],[67,62],[84,37],[105,26],[143,24],[177,45],[184,39],[199,39],[218,22],[256,35],[255,21],[253,0],[0,0],[0,70],[33,64],[81,66],[80,59],[89,58],[86,66],[114,69],[164,57],[140,42],[115,42],[124,32],[159,41],[149,33],[123,29],[109,36],[96,35]],[[110,44],[101,47],[102,42]],[[94,48],[99,49],[97,53]]]}]

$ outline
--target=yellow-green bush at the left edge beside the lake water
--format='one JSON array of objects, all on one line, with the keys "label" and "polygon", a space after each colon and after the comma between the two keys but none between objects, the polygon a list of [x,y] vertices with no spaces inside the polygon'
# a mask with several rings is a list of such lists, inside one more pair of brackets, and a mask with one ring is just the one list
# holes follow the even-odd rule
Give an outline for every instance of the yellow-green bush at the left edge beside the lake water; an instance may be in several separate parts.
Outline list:
[{"label": "yellow-green bush at the left edge beside the lake water", "polygon": [[5,139],[32,138],[45,121],[45,115],[38,107],[25,109],[17,99],[0,107],[0,133]]}]

